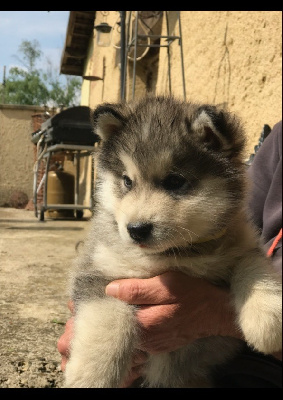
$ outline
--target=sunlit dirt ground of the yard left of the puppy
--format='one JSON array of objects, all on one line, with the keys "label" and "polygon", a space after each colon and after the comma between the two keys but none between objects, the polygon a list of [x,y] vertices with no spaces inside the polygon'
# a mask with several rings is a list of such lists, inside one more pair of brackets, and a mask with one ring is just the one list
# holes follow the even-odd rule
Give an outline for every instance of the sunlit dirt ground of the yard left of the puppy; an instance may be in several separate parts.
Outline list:
[{"label": "sunlit dirt ground of the yard left of the puppy", "polygon": [[89,218],[0,208],[0,388],[59,388],[67,280]]}]

